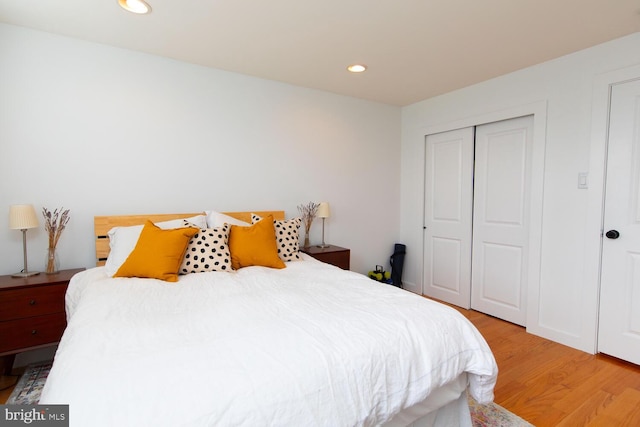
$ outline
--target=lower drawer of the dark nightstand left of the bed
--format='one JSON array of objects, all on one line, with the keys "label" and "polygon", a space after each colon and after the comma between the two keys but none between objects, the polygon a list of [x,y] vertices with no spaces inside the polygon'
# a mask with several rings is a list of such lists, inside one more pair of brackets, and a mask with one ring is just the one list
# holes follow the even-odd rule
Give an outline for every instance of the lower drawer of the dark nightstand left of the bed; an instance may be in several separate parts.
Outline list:
[{"label": "lower drawer of the dark nightstand left of the bed", "polygon": [[0,353],[60,341],[67,322],[64,312],[0,323]]}]

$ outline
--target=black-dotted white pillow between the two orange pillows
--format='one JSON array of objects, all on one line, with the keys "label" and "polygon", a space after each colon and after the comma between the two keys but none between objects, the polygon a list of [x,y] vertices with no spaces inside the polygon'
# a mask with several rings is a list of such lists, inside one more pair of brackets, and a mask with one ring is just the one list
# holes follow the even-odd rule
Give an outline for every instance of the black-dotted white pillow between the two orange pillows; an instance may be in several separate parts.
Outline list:
[{"label": "black-dotted white pillow between the two orange pillows", "polygon": [[[185,221],[185,225],[191,224]],[[228,224],[200,229],[189,241],[179,274],[233,271],[228,242]]]}]

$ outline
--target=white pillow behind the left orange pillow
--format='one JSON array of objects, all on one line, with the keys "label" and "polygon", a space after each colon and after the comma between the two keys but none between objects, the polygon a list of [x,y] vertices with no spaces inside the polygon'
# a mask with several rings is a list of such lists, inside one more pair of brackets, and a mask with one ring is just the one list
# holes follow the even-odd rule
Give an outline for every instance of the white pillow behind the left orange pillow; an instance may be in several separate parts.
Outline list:
[{"label": "white pillow behind the left orange pillow", "polygon": [[[162,229],[169,230],[172,228],[184,227],[182,221],[189,221],[197,228],[207,228],[207,218],[204,215],[196,215],[191,218],[174,219],[171,221],[158,222],[156,225]],[[120,266],[127,260],[129,254],[136,247],[138,238],[142,232],[142,225],[133,225],[131,227],[113,227],[107,235],[109,236],[109,257],[105,263],[106,271],[109,277],[113,277]]]}]

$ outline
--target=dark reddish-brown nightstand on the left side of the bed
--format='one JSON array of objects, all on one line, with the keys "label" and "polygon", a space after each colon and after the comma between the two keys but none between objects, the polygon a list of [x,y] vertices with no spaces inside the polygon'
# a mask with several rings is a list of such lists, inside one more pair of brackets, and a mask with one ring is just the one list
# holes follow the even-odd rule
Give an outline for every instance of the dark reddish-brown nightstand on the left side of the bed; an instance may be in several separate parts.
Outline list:
[{"label": "dark reddish-brown nightstand on the left side of the bed", "polygon": [[16,353],[56,344],[67,326],[64,296],[84,268],[30,277],[0,276],[0,357],[5,373]]}]

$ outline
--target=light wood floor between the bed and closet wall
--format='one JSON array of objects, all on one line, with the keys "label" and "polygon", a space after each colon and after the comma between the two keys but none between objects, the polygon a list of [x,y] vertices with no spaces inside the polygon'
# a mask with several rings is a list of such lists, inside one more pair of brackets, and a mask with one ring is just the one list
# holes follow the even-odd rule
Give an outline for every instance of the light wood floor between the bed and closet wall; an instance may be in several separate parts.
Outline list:
[{"label": "light wood floor between the bed and closet wall", "polygon": [[640,426],[640,366],[591,355],[457,307],[498,363],[494,401],[537,427]]}]

